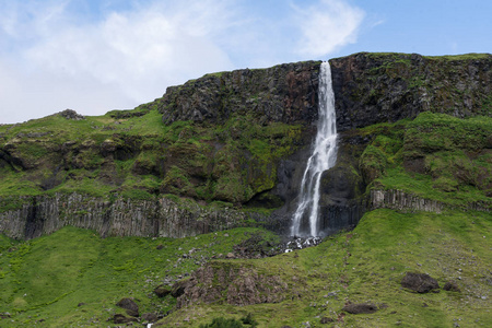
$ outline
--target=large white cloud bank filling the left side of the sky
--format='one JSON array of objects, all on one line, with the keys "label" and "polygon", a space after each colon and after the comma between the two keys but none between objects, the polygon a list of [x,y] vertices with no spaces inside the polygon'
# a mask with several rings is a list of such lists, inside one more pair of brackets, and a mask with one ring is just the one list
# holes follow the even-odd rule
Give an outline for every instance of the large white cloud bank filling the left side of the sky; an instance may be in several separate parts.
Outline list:
[{"label": "large white cloud bank filling the left side of the sky", "polygon": [[[154,4],[82,25],[71,23],[77,17],[66,3],[37,9],[34,2],[11,8],[17,20],[1,26],[15,44],[27,44],[0,57],[0,63],[10,61],[1,79],[12,86],[0,94],[1,122],[67,107],[86,115],[131,108],[161,96],[168,85],[233,68],[210,39],[231,14],[218,1]],[[31,20],[23,22],[25,16]]]}]

